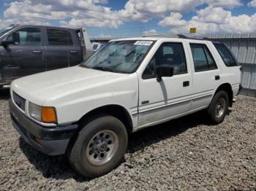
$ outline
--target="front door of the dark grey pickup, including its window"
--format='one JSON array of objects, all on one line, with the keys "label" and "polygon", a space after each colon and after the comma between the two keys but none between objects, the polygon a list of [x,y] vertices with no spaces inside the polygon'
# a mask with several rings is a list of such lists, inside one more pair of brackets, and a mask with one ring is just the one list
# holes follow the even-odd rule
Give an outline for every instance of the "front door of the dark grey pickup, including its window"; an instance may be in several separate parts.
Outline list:
[{"label": "front door of the dark grey pickup, including its window", "polygon": [[45,71],[41,28],[20,28],[7,36],[15,44],[1,47],[1,76],[4,82]]}]

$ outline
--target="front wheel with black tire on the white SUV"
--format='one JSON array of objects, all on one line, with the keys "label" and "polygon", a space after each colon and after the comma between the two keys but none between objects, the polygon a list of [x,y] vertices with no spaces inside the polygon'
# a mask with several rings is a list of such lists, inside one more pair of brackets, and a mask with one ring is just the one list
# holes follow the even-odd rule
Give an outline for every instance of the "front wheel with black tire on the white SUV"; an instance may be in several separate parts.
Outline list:
[{"label": "front wheel with black tire on the white SUV", "polygon": [[121,163],[127,142],[127,130],[116,117],[94,118],[80,130],[69,162],[83,176],[102,176]]}]

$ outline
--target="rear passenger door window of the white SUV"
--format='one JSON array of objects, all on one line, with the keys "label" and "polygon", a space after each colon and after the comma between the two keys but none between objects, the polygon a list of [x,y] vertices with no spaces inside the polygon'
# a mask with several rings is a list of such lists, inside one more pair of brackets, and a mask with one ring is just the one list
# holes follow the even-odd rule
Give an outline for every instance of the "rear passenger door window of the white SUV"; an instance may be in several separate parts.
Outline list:
[{"label": "rear passenger door window of the white SUV", "polygon": [[217,65],[211,52],[205,44],[190,44],[195,71],[217,69]]}]

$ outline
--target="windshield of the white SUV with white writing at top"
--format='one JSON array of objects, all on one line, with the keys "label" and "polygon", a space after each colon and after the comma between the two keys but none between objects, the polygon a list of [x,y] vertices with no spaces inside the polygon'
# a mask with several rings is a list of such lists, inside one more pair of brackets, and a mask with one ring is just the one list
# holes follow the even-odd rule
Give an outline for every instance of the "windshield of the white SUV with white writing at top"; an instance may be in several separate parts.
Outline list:
[{"label": "windshield of the white SUV with white writing at top", "polygon": [[153,41],[108,42],[80,66],[120,73],[132,73],[150,50]]}]

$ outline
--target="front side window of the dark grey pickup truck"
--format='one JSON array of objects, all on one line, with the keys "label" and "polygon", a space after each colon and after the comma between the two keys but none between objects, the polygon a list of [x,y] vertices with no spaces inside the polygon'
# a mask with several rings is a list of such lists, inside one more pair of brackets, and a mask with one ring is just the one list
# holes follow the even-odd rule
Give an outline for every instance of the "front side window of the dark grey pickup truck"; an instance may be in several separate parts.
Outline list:
[{"label": "front side window of the dark grey pickup truck", "polygon": [[21,46],[39,46],[41,44],[40,28],[21,28],[7,37],[8,40],[14,40]]}]

